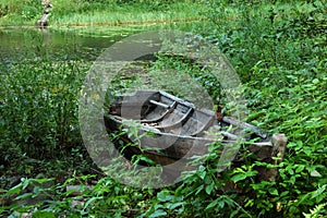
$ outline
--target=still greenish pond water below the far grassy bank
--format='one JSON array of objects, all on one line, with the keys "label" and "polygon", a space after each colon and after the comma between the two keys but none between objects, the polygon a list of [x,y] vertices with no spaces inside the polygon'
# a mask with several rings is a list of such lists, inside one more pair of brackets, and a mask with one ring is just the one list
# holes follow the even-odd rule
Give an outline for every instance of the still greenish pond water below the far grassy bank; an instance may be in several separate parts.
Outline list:
[{"label": "still greenish pond water below the far grassy bank", "polygon": [[[50,58],[95,60],[116,41],[136,33],[155,29],[189,31],[192,23],[143,26],[90,26],[39,29],[36,27],[0,28],[0,61],[10,62],[26,53]],[[61,56],[61,57],[60,57]]]}]

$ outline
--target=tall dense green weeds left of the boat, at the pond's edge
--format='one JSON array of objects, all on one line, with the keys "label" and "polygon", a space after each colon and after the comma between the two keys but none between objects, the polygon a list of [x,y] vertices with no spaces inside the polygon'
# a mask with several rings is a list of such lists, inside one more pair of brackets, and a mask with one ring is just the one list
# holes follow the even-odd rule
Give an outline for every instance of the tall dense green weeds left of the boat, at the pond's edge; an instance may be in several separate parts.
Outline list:
[{"label": "tall dense green weeds left of the boat, at the pond's edge", "polygon": [[[80,61],[33,57],[1,74],[1,149],[56,157],[81,144],[77,95],[86,68]],[[62,154],[61,154],[62,155]]]}]

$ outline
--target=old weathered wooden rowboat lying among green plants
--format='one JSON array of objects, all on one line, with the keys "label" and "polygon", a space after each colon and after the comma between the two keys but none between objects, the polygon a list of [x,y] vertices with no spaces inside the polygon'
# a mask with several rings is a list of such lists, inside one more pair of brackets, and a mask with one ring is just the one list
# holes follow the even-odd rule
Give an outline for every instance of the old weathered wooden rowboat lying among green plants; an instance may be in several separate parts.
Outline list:
[{"label": "old weathered wooden rowboat lying among green plants", "polygon": [[[136,90],[111,99],[105,124],[109,133],[131,130],[119,134],[125,144],[137,144],[124,147],[125,156],[144,154],[161,166],[207,154],[211,143],[251,142],[246,145],[249,152],[269,161],[277,154],[282,157],[286,145],[283,135],[269,137],[254,125],[219,111],[197,109],[192,102],[161,90]],[[122,147],[121,143],[118,146]]]}]

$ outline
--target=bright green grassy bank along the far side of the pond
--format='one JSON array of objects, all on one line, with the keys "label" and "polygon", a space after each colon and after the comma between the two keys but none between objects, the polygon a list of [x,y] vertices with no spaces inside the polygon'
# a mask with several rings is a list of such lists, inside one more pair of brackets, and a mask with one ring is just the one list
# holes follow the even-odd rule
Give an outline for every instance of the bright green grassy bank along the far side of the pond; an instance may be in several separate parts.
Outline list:
[{"label": "bright green grassy bank along the far side of the pond", "polygon": [[[15,3],[16,7],[13,7]],[[86,26],[194,21],[203,7],[193,1],[118,3],[104,1],[53,1],[49,25]],[[1,13],[2,11],[2,13]],[[0,25],[34,25],[43,16],[43,8],[33,1],[0,4]]]}]

